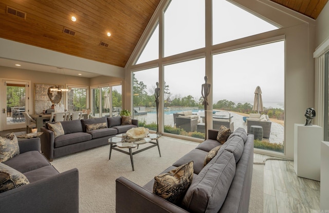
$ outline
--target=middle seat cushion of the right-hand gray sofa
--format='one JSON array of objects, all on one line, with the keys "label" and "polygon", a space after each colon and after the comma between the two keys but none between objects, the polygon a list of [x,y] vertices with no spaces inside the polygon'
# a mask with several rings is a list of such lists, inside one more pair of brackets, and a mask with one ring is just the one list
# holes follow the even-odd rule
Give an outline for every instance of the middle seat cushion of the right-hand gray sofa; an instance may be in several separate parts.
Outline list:
[{"label": "middle seat cushion of the right-hand gray sofa", "polygon": [[204,167],[204,161],[207,156],[208,152],[205,152],[203,150],[199,149],[194,149],[188,154],[184,155],[180,159],[178,159],[173,166],[181,166],[183,164],[186,164],[190,162],[191,160],[193,161],[193,170],[195,174],[199,174],[201,169]]}]

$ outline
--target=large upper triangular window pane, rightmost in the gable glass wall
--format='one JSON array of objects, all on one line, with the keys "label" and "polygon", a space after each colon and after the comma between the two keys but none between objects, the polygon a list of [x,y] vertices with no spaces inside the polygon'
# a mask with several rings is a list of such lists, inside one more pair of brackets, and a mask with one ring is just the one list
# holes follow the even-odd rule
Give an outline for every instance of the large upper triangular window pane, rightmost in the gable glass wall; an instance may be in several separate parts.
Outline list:
[{"label": "large upper triangular window pane, rightmost in the gable glass wall", "polygon": [[228,1],[213,0],[212,6],[213,45],[278,29]]}]

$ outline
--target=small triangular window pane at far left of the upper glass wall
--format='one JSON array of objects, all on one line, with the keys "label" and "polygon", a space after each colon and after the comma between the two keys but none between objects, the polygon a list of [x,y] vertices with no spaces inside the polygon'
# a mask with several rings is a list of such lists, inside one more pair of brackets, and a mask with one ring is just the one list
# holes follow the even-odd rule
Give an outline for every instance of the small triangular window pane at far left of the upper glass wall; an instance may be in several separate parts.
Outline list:
[{"label": "small triangular window pane at far left of the upper glass wall", "polygon": [[159,58],[159,25],[156,26],[150,39],[140,53],[136,65]]}]

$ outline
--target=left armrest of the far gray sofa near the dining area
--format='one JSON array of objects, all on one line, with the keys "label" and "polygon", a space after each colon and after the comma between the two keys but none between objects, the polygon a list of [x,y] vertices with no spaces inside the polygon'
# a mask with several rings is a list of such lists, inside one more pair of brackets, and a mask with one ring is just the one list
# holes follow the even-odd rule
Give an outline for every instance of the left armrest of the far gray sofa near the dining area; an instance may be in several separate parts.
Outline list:
[{"label": "left armrest of the far gray sofa near the dining area", "polygon": [[49,161],[53,159],[53,148],[54,148],[54,135],[53,132],[46,129],[45,127],[41,127],[41,151],[46,156]]}]

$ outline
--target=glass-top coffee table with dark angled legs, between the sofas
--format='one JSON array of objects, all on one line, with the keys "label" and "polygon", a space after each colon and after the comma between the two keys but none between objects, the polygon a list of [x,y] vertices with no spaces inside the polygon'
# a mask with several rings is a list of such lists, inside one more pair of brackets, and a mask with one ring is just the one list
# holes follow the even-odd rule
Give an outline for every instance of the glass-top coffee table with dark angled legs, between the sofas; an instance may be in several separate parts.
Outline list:
[{"label": "glass-top coffee table with dark angled legs, between the sofas", "polygon": [[[112,150],[116,150],[116,151],[119,151],[119,152],[124,153],[126,155],[130,155],[130,160],[131,160],[131,163],[132,163],[133,171],[135,171],[133,155],[135,155],[137,153],[140,153],[140,152],[143,152],[145,150],[149,150],[149,148],[152,148],[154,146],[157,146],[158,150],[159,150],[159,155],[161,157],[159,140],[158,140],[159,137],[161,137],[161,135],[159,135],[159,134],[148,134],[147,137],[142,138],[142,139],[138,139],[138,140],[129,139],[125,136],[126,136],[125,134],[119,134],[119,135],[116,135],[116,136],[108,139],[108,143],[110,144],[108,160],[111,159]],[[153,141],[153,140],[155,140],[155,141]],[[145,143],[151,143],[152,145],[150,145],[148,147],[145,147],[145,148],[142,148],[141,150],[138,150],[138,151],[135,151],[135,152],[132,151],[133,148],[136,148],[136,147],[138,148],[138,146],[140,144],[145,144]],[[129,152],[121,150],[121,148],[128,148]]]}]

